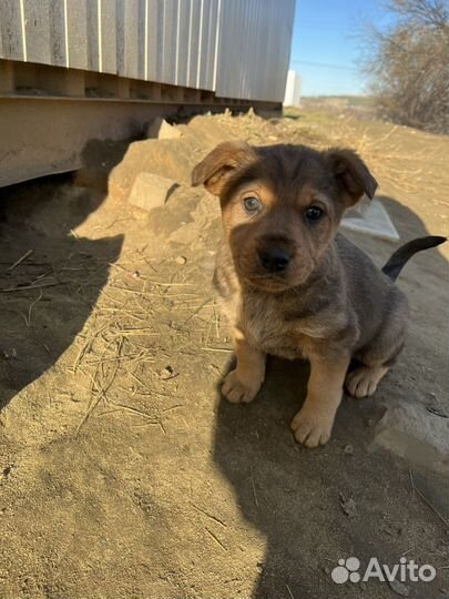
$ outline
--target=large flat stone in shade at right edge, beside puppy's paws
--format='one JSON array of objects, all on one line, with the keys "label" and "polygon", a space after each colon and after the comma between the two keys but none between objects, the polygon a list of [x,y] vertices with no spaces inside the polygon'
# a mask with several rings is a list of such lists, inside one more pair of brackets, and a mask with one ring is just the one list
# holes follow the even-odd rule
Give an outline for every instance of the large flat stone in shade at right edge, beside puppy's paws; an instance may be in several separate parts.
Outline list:
[{"label": "large flat stone in shade at right edge, beside puppy's paws", "polygon": [[375,446],[410,464],[446,474],[449,469],[449,419],[414,404],[398,404],[376,425]]}]

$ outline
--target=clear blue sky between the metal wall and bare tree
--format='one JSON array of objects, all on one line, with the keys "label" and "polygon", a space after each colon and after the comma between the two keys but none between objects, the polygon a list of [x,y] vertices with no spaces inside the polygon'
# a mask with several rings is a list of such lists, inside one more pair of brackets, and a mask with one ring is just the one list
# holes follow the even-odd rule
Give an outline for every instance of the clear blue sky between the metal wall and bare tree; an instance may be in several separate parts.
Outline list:
[{"label": "clear blue sky between the metal wall and bare tree", "polygon": [[381,0],[296,0],[290,69],[302,77],[302,94],[364,93],[359,33],[381,16]]}]

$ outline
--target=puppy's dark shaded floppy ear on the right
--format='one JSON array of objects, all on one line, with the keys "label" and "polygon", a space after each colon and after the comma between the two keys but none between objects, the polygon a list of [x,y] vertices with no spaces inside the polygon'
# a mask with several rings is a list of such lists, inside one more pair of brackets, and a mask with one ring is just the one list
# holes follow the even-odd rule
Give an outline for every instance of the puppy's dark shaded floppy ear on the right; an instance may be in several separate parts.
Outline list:
[{"label": "puppy's dark shaded floppy ear on the right", "polygon": [[333,148],[325,152],[325,156],[343,191],[347,205],[356,204],[364,193],[373,200],[377,181],[354,150]]}]

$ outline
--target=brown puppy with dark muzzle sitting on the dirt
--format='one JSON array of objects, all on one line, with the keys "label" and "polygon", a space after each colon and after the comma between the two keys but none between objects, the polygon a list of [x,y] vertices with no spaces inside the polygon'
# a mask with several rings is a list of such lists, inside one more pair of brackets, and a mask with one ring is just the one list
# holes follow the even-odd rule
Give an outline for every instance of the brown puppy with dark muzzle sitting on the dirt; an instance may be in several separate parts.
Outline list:
[{"label": "brown puppy with dark muzzle sitting on the dirt", "polygon": [[[214,282],[237,358],[223,394],[254,399],[266,354],[308,358],[307,397],[292,428],[307,447],[325,444],[345,383],[355,397],[371,395],[402,348],[407,301],[391,280],[410,255],[445,238],[400,248],[388,277],[337,233],[345,209],[377,187],[350,150],[225,142],[194,169],[192,183],[222,206]],[[353,358],[358,366],[348,373]]]}]

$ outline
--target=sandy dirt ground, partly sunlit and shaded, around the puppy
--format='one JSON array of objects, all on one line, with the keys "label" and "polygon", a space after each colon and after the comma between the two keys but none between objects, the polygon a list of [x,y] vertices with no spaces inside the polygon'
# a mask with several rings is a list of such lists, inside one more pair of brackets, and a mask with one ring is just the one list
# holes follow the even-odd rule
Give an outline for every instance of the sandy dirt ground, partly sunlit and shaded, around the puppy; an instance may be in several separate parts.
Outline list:
[{"label": "sandy dirt ground, partly sunlit and shaded, around the puppy", "polygon": [[[75,180],[1,191],[0,597],[449,597],[447,480],[373,444],[396,402],[449,417],[449,244],[399,278],[410,334],[375,398],[345,399],[330,443],[306,450],[288,427],[306,363],[271,359],[253,404],[220,397],[232,352],[211,286],[218,206],[188,187],[226,136],[353,145],[402,242],[446,235],[449,140],[313,106],[180,130],[92,142]],[[180,184],[150,213],[126,203],[145,169]],[[350,238],[379,265],[396,247]],[[350,556],[406,556],[437,577],[336,585]]]}]

